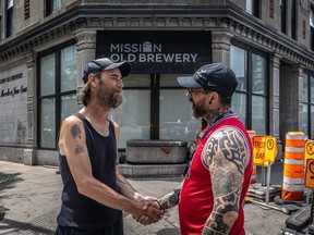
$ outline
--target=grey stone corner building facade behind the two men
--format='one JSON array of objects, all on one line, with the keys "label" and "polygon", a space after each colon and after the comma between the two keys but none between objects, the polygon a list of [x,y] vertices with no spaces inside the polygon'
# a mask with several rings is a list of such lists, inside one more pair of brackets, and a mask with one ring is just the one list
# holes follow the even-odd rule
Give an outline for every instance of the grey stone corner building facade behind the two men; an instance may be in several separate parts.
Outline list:
[{"label": "grey stone corner building facade behind the two men", "polygon": [[177,77],[212,62],[234,71],[247,129],[314,138],[313,0],[0,0],[0,160],[58,164],[60,125],[100,57],[132,65],[110,114],[121,154],[129,139],[192,141],[202,121]]}]

